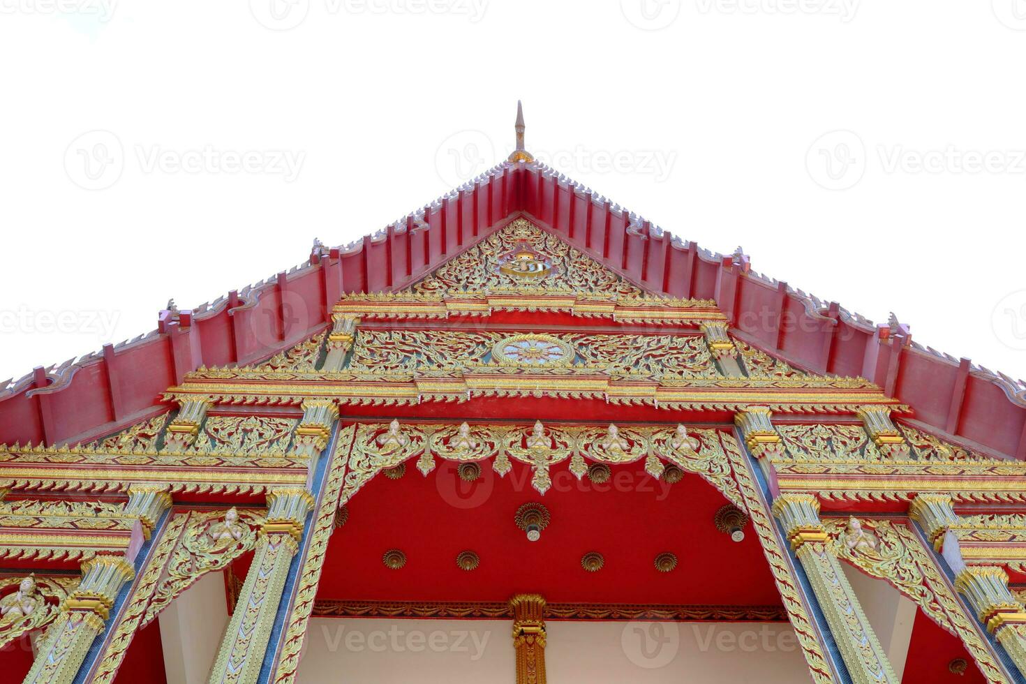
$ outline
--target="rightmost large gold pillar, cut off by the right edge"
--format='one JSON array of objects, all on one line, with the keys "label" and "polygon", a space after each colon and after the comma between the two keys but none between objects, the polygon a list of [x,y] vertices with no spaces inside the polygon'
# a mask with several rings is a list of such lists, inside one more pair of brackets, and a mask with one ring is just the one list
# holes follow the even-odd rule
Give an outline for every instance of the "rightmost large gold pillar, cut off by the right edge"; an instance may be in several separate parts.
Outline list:
[{"label": "rightmost large gold pillar, cut off by the right edge", "polygon": [[1026,612],[1009,591],[1003,568],[973,565],[955,577],[957,589],[973,606],[980,621],[1004,647],[1019,672],[1026,675]]}]

